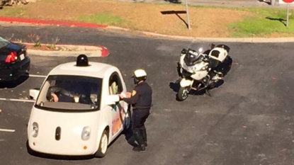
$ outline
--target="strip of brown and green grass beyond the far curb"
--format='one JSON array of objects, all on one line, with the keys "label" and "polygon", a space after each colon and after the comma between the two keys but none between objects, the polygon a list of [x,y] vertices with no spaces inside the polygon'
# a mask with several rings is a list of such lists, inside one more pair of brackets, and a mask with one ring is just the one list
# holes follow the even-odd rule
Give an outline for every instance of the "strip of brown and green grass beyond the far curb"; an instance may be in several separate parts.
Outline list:
[{"label": "strip of brown and green grass beyond the far curb", "polygon": [[[77,7],[79,6],[79,7]],[[5,6],[0,16],[83,21],[115,25],[166,35],[190,37],[294,37],[293,9],[285,26],[286,8],[227,8],[107,0],[40,0],[23,6]]]}]

